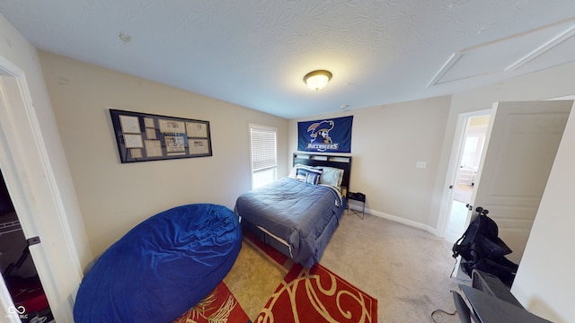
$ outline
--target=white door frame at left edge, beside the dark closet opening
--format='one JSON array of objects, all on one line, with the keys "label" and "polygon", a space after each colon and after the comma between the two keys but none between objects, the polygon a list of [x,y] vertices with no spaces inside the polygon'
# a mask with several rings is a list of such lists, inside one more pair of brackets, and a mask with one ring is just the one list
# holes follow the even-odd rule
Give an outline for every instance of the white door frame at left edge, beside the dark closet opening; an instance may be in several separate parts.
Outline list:
[{"label": "white door frame at left edge, beside the dark closet opening", "polygon": [[[72,322],[82,269],[67,223],[48,148],[22,69],[0,56],[0,167],[14,209],[28,239],[50,310],[58,322]],[[0,282],[0,317],[20,322],[12,298]]]}]

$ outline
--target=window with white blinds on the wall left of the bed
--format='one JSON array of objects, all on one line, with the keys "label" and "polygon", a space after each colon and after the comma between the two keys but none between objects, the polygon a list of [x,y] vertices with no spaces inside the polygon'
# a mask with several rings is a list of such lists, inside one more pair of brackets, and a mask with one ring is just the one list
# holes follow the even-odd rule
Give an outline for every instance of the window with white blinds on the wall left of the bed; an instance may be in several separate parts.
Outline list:
[{"label": "window with white blinds on the wall left of the bed", "polygon": [[278,158],[274,127],[250,125],[252,148],[252,188],[260,188],[276,180]]}]

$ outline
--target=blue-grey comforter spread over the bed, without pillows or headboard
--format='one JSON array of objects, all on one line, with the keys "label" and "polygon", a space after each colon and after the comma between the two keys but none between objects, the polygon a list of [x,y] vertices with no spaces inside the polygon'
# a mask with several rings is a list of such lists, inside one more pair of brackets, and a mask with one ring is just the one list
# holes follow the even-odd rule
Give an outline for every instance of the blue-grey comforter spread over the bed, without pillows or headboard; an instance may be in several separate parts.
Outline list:
[{"label": "blue-grey comforter spread over the bed, without pillows or headboard", "polygon": [[285,240],[297,263],[319,262],[339,225],[343,202],[337,190],[290,178],[239,196],[235,213]]}]

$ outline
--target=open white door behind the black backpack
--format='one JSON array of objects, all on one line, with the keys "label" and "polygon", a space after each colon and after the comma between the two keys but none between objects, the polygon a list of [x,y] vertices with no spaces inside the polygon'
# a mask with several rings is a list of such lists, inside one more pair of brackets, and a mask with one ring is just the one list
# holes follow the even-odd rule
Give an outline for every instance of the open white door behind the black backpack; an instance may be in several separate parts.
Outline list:
[{"label": "open white door behind the black backpack", "polygon": [[499,102],[493,107],[473,190],[519,263],[553,166],[572,100]]}]

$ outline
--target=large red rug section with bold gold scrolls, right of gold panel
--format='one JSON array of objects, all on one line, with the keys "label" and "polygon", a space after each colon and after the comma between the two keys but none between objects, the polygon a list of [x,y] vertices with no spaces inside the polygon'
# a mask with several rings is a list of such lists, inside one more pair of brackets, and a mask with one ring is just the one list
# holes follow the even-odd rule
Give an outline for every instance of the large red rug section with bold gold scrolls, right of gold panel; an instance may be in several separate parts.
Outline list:
[{"label": "large red rug section with bold gold scrolls, right of gold panel", "polygon": [[296,264],[254,322],[376,321],[376,299],[321,265]]}]

